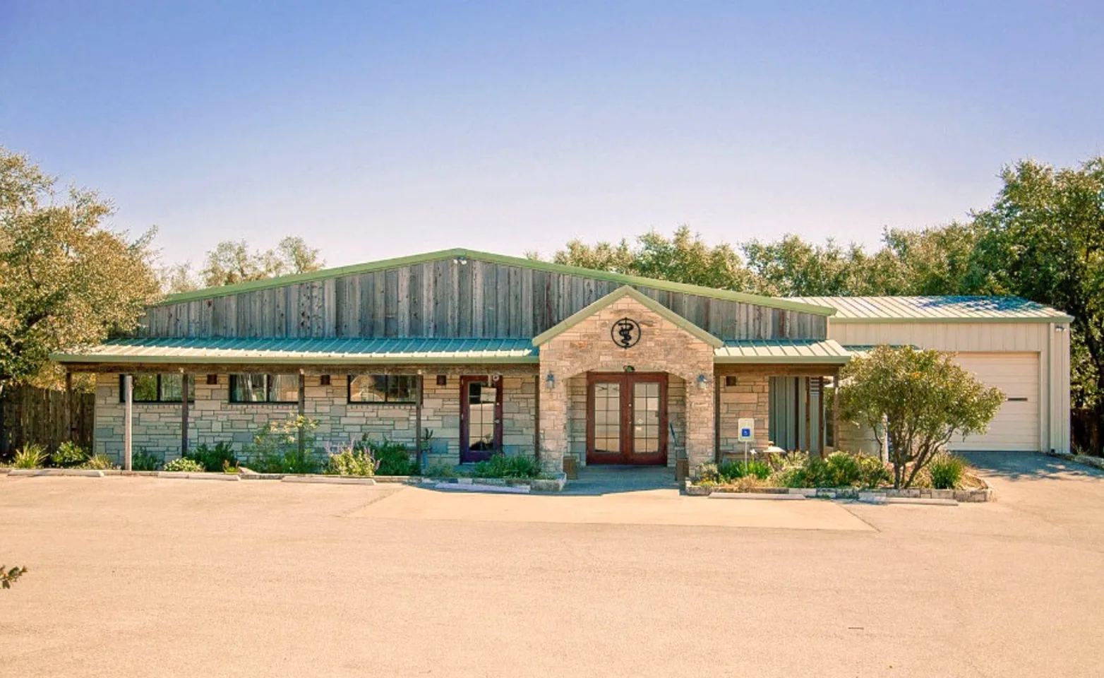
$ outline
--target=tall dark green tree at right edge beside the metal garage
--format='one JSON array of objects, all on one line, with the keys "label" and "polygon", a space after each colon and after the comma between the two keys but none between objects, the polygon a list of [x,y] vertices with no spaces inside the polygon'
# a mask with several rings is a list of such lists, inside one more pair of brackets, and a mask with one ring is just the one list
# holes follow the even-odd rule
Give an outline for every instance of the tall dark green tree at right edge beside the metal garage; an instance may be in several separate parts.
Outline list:
[{"label": "tall dark green tree at right edge beside the metal garage", "polygon": [[1104,156],[1076,169],[1023,160],[1001,172],[992,206],[974,216],[979,235],[967,286],[1011,294],[1071,316],[1071,400],[1093,412],[1087,445],[1104,426]]}]

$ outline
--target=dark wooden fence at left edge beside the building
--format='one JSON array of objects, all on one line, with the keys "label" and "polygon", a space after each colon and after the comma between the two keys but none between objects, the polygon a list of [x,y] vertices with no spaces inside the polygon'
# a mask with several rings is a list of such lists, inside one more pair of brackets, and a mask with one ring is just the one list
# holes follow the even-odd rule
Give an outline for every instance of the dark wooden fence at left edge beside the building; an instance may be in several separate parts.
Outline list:
[{"label": "dark wooden fence at left edge beside the building", "polygon": [[47,449],[64,441],[92,448],[95,427],[95,393],[7,388],[0,399],[0,457],[8,457],[26,443]]}]

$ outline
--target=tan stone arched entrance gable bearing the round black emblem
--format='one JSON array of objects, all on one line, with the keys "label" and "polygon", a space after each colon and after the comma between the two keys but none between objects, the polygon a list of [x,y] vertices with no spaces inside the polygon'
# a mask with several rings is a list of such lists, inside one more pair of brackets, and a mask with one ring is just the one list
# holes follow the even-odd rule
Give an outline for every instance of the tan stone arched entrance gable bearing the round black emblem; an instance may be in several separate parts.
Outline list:
[{"label": "tan stone arched entrance gable bearing the round black emblem", "polygon": [[[623,349],[609,330],[626,316],[640,325],[641,336],[636,346]],[[580,320],[542,345],[540,356],[542,379],[552,373],[555,380],[552,389],[541,392],[541,458],[550,468],[562,468],[563,455],[572,449],[572,378],[588,371],[622,372],[626,366],[638,372],[667,372],[690,383],[705,377],[704,388],[682,389],[683,438],[691,467],[713,459],[713,348],[636,299],[622,297]],[[668,460],[675,456],[668,449]]]}]

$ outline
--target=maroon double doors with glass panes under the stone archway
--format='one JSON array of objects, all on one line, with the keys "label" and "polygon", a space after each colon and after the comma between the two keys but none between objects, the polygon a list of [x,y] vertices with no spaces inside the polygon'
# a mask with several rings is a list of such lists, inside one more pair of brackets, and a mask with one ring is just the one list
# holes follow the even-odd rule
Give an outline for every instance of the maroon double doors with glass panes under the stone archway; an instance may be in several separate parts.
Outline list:
[{"label": "maroon double doors with glass panes under the stone archway", "polygon": [[587,374],[586,463],[667,464],[667,374]]}]

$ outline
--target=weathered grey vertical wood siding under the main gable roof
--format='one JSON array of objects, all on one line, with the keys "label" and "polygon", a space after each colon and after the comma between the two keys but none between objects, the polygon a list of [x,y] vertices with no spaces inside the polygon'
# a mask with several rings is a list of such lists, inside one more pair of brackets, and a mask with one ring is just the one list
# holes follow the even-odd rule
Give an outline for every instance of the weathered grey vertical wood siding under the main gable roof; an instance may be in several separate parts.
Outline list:
[{"label": "weathered grey vertical wood siding under the main gable roof", "polygon": [[[150,308],[148,337],[533,337],[619,284],[438,259]],[[825,316],[637,286],[721,339],[824,339]]]}]

